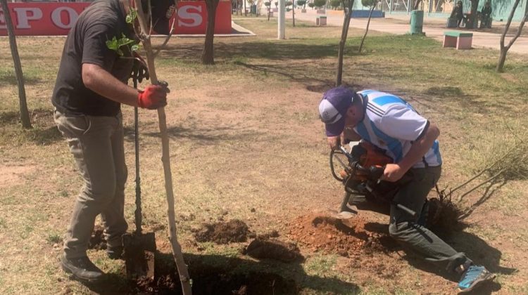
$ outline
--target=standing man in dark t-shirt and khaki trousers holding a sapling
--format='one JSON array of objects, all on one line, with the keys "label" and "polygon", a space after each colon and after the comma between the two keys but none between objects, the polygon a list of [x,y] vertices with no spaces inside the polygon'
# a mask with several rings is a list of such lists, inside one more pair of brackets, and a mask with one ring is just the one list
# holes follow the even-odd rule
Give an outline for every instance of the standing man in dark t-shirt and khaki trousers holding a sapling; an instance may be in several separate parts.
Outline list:
[{"label": "standing man in dark t-shirt and khaki trousers holding a sapling", "polygon": [[[110,258],[120,257],[121,236],[127,231],[123,210],[127,166],[120,106],[156,110],[167,104],[168,89],[163,86],[149,85],[144,91],[127,86],[137,60],[127,46],[121,46],[119,55],[106,45],[113,38],[136,39],[132,25],[137,24],[126,22],[133,9],[131,2],[94,1],[79,16],[65,41],[51,99],[58,130],[68,141],[84,180],[61,256],[63,270],[82,282],[97,282],[103,277],[86,253],[96,216],[101,214]],[[152,3],[153,30],[168,34],[175,2]],[[137,78],[142,79],[142,75]]]}]

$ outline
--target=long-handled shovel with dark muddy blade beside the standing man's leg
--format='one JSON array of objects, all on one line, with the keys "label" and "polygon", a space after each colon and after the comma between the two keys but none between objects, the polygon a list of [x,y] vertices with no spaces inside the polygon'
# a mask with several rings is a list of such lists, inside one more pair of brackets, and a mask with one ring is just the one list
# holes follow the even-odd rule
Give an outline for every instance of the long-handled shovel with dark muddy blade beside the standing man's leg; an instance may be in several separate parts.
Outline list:
[{"label": "long-handled shovel with dark muddy blade beside the standing man's leg", "polygon": [[[137,89],[137,79],[133,79],[134,88]],[[141,180],[139,178],[139,128],[138,112],[134,107],[134,143],[136,152],[136,211],[134,220],[136,231],[122,236],[123,256],[129,280],[140,277],[154,278],[154,252],[156,251],[156,237],[153,232],[142,232],[142,201]]]}]

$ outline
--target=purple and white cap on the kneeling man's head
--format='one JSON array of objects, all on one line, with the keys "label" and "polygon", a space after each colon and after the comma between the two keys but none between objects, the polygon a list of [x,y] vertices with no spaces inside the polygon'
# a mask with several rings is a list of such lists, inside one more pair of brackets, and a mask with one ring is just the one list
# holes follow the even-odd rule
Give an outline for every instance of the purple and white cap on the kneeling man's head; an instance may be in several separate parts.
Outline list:
[{"label": "purple and white cap on the kneeling man's head", "polygon": [[325,123],[327,136],[339,136],[345,128],[345,117],[356,92],[346,87],[336,87],[325,92],[319,103],[319,117]]}]

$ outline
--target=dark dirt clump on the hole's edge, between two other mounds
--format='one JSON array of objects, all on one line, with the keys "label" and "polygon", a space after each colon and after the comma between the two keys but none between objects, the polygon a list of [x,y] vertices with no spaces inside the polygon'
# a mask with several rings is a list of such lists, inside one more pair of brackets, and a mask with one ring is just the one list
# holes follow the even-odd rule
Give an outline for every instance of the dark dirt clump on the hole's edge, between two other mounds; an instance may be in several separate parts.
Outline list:
[{"label": "dark dirt clump on the hole's edge, between two other mounds", "polygon": [[256,238],[249,243],[242,254],[257,259],[268,258],[284,262],[303,261],[304,259],[296,244],[281,242],[277,239]]}]

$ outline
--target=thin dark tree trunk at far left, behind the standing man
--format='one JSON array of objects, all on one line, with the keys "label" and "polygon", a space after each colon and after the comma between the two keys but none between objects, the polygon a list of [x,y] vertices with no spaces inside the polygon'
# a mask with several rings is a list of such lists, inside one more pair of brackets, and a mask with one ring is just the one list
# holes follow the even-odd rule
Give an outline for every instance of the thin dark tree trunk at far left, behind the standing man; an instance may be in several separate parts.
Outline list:
[{"label": "thin dark tree trunk at far left, behind the standing man", "polygon": [[15,30],[13,29],[13,20],[11,20],[11,13],[7,7],[7,0],[0,0],[2,10],[4,11],[4,18],[6,20],[7,32],[9,35],[9,46],[11,47],[11,55],[13,56],[13,63],[15,66],[16,81],[18,84],[18,100],[20,102],[20,121],[25,129],[32,128],[30,120],[30,112],[27,111],[27,100],[24,88],[24,74],[22,72],[22,65],[20,64],[20,56],[18,55],[18,46],[16,45]]}]

